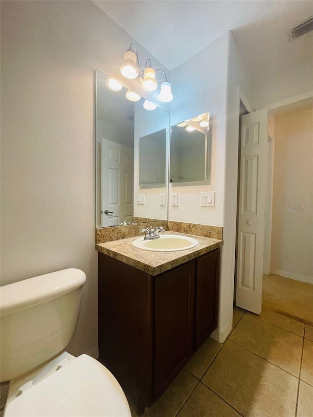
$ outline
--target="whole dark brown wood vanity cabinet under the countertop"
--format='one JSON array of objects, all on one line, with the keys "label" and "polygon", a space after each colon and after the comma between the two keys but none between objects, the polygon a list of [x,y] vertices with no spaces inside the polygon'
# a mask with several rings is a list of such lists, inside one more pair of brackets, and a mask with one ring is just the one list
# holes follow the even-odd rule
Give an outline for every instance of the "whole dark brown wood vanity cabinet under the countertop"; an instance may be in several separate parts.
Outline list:
[{"label": "whole dark brown wood vanity cabinet under the countertop", "polygon": [[99,253],[99,360],[143,413],[217,326],[215,249],[152,276]]}]

